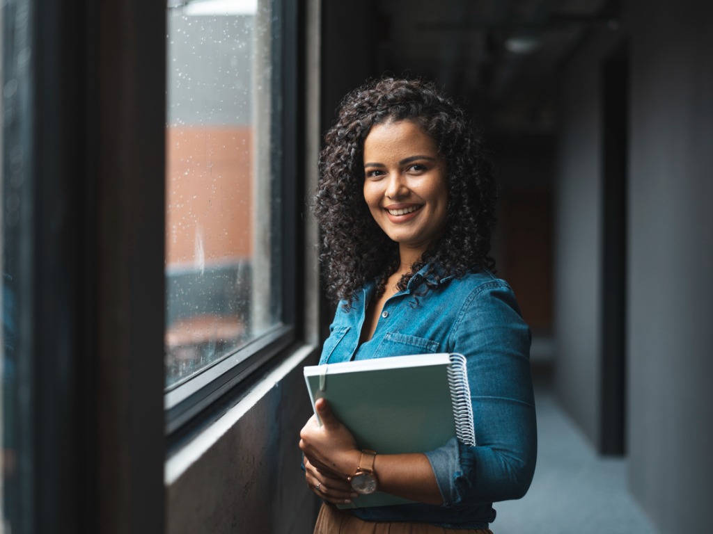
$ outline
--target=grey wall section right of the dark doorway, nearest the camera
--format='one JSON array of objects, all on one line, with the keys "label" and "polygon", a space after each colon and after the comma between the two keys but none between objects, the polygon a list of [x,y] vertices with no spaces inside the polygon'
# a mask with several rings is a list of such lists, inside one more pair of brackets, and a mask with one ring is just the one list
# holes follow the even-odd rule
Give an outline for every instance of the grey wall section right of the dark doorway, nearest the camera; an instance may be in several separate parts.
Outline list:
[{"label": "grey wall section right of the dark doorway, nearest the camera", "polygon": [[662,532],[707,532],[713,520],[713,9],[695,0],[632,7],[630,486]]}]

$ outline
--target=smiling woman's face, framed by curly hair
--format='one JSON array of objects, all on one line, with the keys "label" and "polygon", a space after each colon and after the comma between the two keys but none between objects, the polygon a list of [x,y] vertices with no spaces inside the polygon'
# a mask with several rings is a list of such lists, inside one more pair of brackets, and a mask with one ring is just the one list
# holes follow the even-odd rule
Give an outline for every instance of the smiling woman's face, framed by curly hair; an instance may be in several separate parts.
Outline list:
[{"label": "smiling woman's face, framed by curly hair", "polygon": [[364,199],[376,224],[406,249],[424,253],[446,225],[446,162],[410,120],[374,125],[364,140]]}]

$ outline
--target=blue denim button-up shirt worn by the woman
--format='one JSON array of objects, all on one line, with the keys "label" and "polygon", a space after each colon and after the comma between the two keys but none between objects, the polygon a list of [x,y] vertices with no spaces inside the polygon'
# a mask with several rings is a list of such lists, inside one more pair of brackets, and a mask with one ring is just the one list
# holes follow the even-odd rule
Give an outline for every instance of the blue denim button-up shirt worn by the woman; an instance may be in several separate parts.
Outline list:
[{"label": "blue denim button-up shirt worn by the woman", "polygon": [[535,471],[530,330],[510,286],[488,271],[443,278],[438,287],[418,296],[424,272],[386,301],[373,337],[361,346],[361,326],[375,284],[358,291],[350,308],[340,303],[319,363],[461,353],[468,362],[476,446],[453,438],[426,453],[443,497],[441,506],[414,503],[355,508],[352,513],[364,520],[487,528],[496,515],[493,502],[522,497]]}]

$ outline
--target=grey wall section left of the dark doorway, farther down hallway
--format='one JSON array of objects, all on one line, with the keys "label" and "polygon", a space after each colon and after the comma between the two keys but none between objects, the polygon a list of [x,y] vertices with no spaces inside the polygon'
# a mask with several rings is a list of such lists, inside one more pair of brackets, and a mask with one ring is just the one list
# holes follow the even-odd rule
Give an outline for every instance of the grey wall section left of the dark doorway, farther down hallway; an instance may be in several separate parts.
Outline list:
[{"label": "grey wall section left of the dark doorway, farther down hallway", "polygon": [[556,392],[593,444],[600,440],[600,41],[590,41],[565,76],[555,187]]}]

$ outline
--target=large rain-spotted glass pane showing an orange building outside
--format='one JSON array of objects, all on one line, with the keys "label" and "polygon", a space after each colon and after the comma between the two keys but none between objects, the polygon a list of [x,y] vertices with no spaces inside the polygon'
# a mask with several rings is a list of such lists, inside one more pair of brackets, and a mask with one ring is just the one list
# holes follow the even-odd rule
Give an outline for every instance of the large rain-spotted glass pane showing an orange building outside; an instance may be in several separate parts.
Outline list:
[{"label": "large rain-spotted glass pane showing an orange building outside", "polygon": [[275,327],[269,1],[168,9],[166,387]]}]

